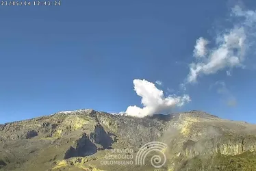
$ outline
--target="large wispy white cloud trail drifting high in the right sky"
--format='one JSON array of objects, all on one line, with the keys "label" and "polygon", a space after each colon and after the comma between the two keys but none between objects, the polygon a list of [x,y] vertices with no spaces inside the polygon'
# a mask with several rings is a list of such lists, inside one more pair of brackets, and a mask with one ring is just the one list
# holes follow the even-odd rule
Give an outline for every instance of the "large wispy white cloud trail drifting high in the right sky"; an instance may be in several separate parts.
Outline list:
[{"label": "large wispy white cloud trail drifting high in the right sky", "polygon": [[244,68],[246,53],[252,45],[252,36],[256,33],[256,12],[242,11],[239,6],[235,6],[231,16],[240,22],[215,38],[216,47],[207,49],[207,40],[196,40],[194,56],[197,60],[190,64],[188,83],[196,82],[199,75],[215,74],[226,68]]}]

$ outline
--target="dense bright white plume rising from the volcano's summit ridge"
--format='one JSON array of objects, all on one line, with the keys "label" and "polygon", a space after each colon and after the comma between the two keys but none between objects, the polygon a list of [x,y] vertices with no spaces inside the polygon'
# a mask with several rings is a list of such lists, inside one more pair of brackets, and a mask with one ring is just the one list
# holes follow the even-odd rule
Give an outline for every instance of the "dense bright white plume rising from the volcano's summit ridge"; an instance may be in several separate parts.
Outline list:
[{"label": "dense bright white plume rising from the volcano's summit ridge", "polygon": [[142,97],[140,108],[135,106],[127,107],[126,114],[136,117],[152,116],[153,114],[166,114],[176,106],[180,107],[190,101],[190,96],[164,96],[164,92],[155,87],[155,85],[145,79],[134,79],[134,90],[138,96]]}]

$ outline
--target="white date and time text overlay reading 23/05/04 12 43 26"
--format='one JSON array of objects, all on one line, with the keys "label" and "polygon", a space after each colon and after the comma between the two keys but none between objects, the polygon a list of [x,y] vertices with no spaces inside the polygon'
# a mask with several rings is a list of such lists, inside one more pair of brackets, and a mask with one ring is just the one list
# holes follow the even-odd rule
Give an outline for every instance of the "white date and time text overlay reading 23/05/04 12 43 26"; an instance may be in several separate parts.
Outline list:
[{"label": "white date and time text overlay reading 23/05/04 12 43 26", "polygon": [[1,1],[0,6],[60,6],[62,1]]}]

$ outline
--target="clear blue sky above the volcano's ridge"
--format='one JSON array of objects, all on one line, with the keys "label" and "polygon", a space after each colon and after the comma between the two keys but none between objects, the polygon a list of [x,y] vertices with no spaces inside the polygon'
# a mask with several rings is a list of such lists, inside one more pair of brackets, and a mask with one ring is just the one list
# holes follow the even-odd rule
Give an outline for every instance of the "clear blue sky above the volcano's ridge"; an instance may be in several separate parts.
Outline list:
[{"label": "clear blue sky above the volcano's ridge", "polygon": [[[235,5],[239,9],[231,17]],[[162,100],[173,94],[177,95],[173,99],[185,94],[190,97],[181,107],[174,108],[176,103],[169,106],[172,111],[199,109],[256,123],[256,60],[251,50],[255,21],[249,23],[252,18],[247,15],[255,10],[253,1],[222,0],[0,6],[0,123],[65,110],[119,112],[128,106],[143,107],[140,96],[149,96],[143,92],[138,96],[134,79],[142,83],[142,89],[144,83],[153,83],[151,88],[163,90]],[[235,27],[244,32],[235,32]],[[232,31],[246,36],[245,54],[244,46],[229,49],[238,57],[238,52],[243,53],[243,59],[239,58],[239,64],[226,61],[207,68],[211,54],[223,44],[230,45],[223,40],[214,42]],[[201,51],[196,54],[199,38]],[[191,69],[201,65],[206,68],[188,81]],[[160,113],[166,107],[146,105]]]}]

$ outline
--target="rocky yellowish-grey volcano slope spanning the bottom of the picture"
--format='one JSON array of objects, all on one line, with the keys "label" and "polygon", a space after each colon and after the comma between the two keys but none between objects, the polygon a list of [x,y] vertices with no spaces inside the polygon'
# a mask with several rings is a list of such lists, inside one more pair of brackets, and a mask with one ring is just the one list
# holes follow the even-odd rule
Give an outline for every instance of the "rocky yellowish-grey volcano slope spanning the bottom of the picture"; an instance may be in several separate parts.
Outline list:
[{"label": "rocky yellowish-grey volcano slope spanning the bottom of the picture", "polygon": [[[0,124],[0,170],[154,170],[154,152],[144,165],[135,162],[140,148],[154,141],[167,145],[162,170],[255,170],[255,130],[203,111],[145,118],[63,111]],[[116,155],[126,158],[107,158]]]}]

